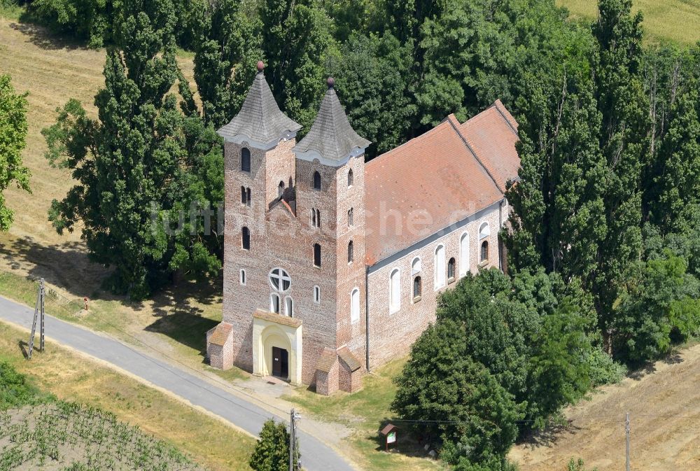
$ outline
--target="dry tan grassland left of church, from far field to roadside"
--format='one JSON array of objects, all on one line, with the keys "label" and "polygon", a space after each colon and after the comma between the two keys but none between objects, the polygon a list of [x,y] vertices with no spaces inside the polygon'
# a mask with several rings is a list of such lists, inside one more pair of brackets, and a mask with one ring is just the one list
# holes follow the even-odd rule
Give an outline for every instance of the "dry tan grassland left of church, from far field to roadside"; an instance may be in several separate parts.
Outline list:
[{"label": "dry tan grassland left of church, from far field to roadside", "polygon": [[[69,171],[48,164],[41,129],[55,122],[55,109],[71,97],[79,99],[89,113],[97,112],[92,101],[104,83],[104,50],[80,48],[7,17],[0,17],[0,37],[0,73],[10,73],[16,90],[29,92],[29,134],[23,155],[32,174],[31,194],[16,188],[6,191],[15,223],[10,232],[0,233],[0,272],[43,277],[59,297],[72,301],[73,307],[87,296],[87,315],[71,315],[76,309],[72,313],[64,309],[49,312],[139,346],[148,344],[202,370],[204,332],[221,321],[219,283],[181,283],[148,302],[127,302],[99,289],[109,272],[88,260],[79,234],[61,236],[48,222],[52,199],[64,197],[73,180]],[[180,57],[179,63],[191,78],[191,57]],[[31,300],[32,289],[8,278],[0,283],[0,293],[23,302],[28,302],[27,297]],[[245,375],[233,370],[223,377]]]}]

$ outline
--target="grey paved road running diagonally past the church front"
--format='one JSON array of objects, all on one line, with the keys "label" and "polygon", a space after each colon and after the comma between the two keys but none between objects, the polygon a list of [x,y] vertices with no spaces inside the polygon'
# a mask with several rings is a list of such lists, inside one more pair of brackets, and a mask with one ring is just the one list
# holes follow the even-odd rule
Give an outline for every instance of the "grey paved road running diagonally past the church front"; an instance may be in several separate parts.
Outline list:
[{"label": "grey paved road running diagonally past the church front", "polygon": [[[31,329],[34,309],[0,297],[0,320]],[[232,395],[185,370],[164,363],[114,339],[97,335],[77,325],[46,316],[46,337],[87,353],[141,377],[155,386],[188,400],[234,423],[248,433],[258,435],[267,419],[287,420],[258,407],[253,402]],[[38,342],[38,336],[36,337]],[[35,345],[36,345],[35,342]],[[308,471],[353,471],[353,467],[333,449],[300,431],[304,469]]]}]

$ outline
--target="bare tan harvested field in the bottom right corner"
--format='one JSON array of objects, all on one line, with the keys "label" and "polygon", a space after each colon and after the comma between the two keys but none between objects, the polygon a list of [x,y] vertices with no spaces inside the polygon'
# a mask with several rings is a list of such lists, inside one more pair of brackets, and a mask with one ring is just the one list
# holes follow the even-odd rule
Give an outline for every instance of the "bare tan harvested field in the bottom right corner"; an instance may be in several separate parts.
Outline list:
[{"label": "bare tan harvested field in the bottom right corner", "polygon": [[700,345],[604,388],[567,411],[569,428],[514,447],[510,456],[522,471],[564,471],[571,457],[583,458],[587,469],[622,471],[625,412],[632,470],[700,468]]}]

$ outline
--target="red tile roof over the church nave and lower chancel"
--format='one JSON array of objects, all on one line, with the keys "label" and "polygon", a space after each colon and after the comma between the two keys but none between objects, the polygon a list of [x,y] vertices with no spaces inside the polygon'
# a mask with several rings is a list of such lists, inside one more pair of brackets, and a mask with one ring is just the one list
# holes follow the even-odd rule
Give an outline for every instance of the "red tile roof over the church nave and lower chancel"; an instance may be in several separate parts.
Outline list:
[{"label": "red tile roof over the church nave and lower chancel", "polygon": [[503,199],[517,176],[517,122],[500,101],[440,125],[365,165],[367,265]]}]

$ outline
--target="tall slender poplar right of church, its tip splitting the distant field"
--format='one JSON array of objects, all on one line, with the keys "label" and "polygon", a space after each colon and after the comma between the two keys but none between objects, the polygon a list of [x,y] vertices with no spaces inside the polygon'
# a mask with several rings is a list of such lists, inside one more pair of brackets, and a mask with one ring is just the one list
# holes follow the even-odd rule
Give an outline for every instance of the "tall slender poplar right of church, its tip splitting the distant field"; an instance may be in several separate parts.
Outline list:
[{"label": "tall slender poplar right of church, its tip splitting the distant field", "polygon": [[592,292],[608,345],[614,304],[642,251],[640,171],[647,146],[648,106],[639,70],[642,15],[631,15],[631,0],[600,0],[594,76],[601,113],[600,148],[606,165],[605,238],[598,244]]}]

